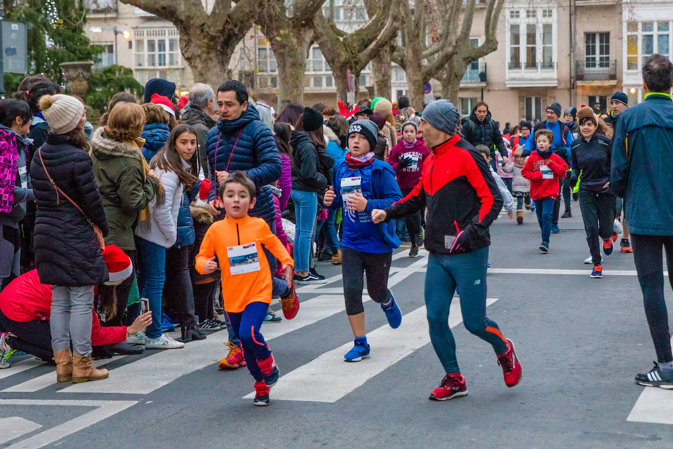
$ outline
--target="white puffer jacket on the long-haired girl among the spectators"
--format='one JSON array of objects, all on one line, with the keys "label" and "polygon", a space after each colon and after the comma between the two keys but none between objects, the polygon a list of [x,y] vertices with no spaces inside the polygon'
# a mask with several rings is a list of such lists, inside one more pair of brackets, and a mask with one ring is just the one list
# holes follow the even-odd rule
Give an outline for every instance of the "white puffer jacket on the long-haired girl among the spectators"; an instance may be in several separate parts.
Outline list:
[{"label": "white puffer jacket on the long-haired girl among the spectators", "polygon": [[[185,168],[188,164],[180,159]],[[163,205],[157,205],[156,197],[149,203],[150,226],[149,230],[135,228],[135,235],[149,240],[149,242],[170,248],[178,238],[178,212],[182,201],[182,184],[178,181],[175,172],[165,172],[160,168],[154,170],[164,186],[166,197]]]}]

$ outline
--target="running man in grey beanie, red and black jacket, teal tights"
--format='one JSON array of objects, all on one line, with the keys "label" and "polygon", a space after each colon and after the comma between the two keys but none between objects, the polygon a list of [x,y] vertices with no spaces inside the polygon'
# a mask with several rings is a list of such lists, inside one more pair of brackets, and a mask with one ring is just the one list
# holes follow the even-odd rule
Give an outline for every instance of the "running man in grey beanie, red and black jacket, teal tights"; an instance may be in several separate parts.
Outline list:
[{"label": "running man in grey beanie, red and black jacket, teal tights", "polygon": [[514,346],[486,316],[486,270],[489,226],[503,201],[481,153],[457,134],[460,114],[449,100],[423,110],[420,130],[431,156],[413,191],[388,209],[375,209],[375,223],[401,218],[427,205],[425,248],[430,252],[425,275],[425,306],[432,345],[446,376],[430,394],[444,401],[465,396],[467,387],[456,361],[456,342],[448,326],[456,287],[466,329],[491,343],[505,384],[515,386],[521,366]]}]

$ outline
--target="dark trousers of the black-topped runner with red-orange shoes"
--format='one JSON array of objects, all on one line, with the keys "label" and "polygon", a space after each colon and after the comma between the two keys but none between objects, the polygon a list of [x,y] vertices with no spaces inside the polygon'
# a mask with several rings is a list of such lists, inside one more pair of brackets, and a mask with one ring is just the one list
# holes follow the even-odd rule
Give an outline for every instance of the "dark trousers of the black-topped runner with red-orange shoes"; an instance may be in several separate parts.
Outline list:
[{"label": "dark trousers of the black-topped runner with red-orange shoes", "polygon": [[614,223],[614,195],[580,191],[579,210],[582,211],[584,230],[594,265],[600,263],[600,237],[608,240],[612,237]]}]

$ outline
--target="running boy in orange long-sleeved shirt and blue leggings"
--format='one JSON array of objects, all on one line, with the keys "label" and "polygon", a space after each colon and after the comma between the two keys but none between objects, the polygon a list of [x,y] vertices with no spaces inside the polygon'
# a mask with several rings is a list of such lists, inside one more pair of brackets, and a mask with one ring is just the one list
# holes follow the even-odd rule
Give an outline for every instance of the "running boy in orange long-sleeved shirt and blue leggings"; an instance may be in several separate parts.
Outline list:
[{"label": "running boy in orange long-sleeved shirt and blue leggings", "polygon": [[267,256],[261,245],[283,263],[287,289],[281,295],[283,308],[299,308],[292,282],[293,261],[281,241],[261,218],[248,216],[255,205],[255,186],[242,172],[235,172],[219,186],[224,219],[211,225],[197,254],[196,269],[207,275],[218,267],[227,286],[224,312],[240,339],[246,366],[255,380],[254,405],[269,405],[269,388],[280,372],[259,329],[271,304],[272,281]]}]

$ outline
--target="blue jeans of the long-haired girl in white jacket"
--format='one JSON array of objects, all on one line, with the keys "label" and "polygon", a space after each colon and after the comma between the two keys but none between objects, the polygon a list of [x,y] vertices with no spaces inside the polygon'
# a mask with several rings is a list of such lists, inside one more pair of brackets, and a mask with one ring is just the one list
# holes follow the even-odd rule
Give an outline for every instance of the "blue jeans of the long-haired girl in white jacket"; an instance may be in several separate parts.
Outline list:
[{"label": "blue jeans of the long-haired girl in white jacket", "polygon": [[137,250],[138,289],[141,298],[149,300],[152,311],[152,324],[147,326],[145,334],[151,339],[162,335],[162,295],[166,279],[166,248],[135,236]]}]

